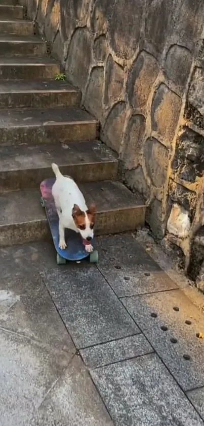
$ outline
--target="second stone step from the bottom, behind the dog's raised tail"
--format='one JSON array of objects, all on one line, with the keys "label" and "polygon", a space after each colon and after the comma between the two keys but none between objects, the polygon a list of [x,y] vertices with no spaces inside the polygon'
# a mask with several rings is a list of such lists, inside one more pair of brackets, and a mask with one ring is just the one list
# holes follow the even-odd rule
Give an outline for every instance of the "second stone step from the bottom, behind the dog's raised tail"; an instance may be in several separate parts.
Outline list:
[{"label": "second stone step from the bottom, behind the dog's raised tail", "polygon": [[116,156],[99,141],[0,147],[0,192],[38,188],[40,182],[54,176],[52,162],[77,182],[117,176]]}]

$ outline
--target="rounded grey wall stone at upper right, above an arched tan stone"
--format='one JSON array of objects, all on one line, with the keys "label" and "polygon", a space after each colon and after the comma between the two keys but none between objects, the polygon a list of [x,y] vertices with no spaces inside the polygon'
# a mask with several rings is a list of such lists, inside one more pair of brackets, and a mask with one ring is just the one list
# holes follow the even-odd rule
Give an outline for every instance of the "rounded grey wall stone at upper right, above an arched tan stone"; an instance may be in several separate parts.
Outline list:
[{"label": "rounded grey wall stone at upper right, above an arched tan stone", "polygon": [[165,72],[177,87],[179,94],[183,94],[189,77],[192,64],[192,55],[188,49],[182,46],[173,45],[170,47]]}]

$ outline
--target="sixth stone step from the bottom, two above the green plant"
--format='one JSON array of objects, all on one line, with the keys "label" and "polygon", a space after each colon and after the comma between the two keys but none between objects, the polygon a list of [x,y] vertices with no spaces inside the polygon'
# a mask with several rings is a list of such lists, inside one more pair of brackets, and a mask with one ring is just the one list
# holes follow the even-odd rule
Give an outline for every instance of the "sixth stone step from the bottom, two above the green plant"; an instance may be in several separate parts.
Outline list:
[{"label": "sixth stone step from the bottom, two above the green plant", "polygon": [[0,35],[1,56],[40,56],[46,53],[46,43],[37,37]]}]

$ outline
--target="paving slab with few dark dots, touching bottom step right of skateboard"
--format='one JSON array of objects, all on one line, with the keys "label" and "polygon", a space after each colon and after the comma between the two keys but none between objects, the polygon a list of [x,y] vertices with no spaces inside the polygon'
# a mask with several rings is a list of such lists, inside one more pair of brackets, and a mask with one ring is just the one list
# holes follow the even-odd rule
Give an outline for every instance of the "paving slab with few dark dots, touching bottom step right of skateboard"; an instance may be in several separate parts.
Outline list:
[{"label": "paving slab with few dark dots, touching bottom step right of skateboard", "polygon": [[118,297],[177,288],[132,236],[99,238],[98,247],[98,269]]}]

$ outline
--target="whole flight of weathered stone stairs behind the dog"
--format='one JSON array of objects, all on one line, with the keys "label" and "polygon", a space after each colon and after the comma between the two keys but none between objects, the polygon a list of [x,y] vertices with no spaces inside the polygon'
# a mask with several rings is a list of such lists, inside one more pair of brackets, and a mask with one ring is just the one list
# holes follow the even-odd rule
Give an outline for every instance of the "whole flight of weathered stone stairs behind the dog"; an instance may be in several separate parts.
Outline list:
[{"label": "whole flight of weathered stone stairs behind the dog", "polygon": [[0,246],[50,237],[39,183],[55,161],[97,205],[96,234],[135,230],[145,204],[118,181],[118,159],[97,140],[80,92],[55,81],[60,64],[15,0],[0,0]]}]

